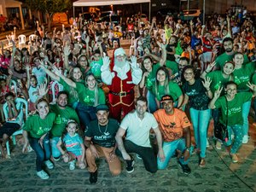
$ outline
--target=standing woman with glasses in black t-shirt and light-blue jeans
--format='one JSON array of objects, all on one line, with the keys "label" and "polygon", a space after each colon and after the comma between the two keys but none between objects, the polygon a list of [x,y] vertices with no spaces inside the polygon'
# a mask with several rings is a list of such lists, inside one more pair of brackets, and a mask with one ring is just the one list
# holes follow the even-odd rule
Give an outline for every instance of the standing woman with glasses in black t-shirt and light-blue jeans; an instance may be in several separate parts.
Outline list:
[{"label": "standing woman with glasses in black t-shirt and light-blue jeans", "polygon": [[186,66],[182,72],[183,79],[183,105],[189,103],[189,113],[193,123],[195,148],[200,153],[199,166],[206,166],[207,130],[211,118],[211,110],[208,108],[212,91],[211,80],[203,80],[196,77],[195,68]]}]

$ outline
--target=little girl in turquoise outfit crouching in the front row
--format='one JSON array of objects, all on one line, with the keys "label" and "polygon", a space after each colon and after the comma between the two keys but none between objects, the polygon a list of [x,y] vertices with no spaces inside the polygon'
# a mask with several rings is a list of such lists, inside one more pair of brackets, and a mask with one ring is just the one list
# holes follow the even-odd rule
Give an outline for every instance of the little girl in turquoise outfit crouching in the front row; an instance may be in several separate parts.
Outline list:
[{"label": "little girl in turquoise outfit crouching in the front row", "polygon": [[[69,164],[69,170],[75,169],[76,159],[79,161],[80,169],[84,169],[86,165],[84,142],[78,132],[79,125],[73,119],[68,120],[66,131],[57,143],[57,148],[61,151],[64,162]],[[62,143],[67,152],[61,148]]]}]

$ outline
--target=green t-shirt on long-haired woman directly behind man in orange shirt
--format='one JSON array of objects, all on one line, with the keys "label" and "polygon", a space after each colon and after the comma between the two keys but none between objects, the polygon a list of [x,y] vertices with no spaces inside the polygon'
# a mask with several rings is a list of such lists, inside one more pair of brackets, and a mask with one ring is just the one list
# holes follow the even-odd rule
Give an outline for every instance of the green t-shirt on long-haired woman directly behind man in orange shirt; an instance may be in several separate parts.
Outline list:
[{"label": "green t-shirt on long-haired woman directly behind man in orange shirt", "polygon": [[164,85],[158,85],[158,91],[156,92],[154,84],[152,86],[152,93],[154,94],[158,101],[160,101],[161,97],[165,96],[166,94],[171,95],[174,101],[176,101],[179,96],[183,95],[183,91],[180,89],[178,84],[172,81],[169,82],[169,92],[165,90]]}]

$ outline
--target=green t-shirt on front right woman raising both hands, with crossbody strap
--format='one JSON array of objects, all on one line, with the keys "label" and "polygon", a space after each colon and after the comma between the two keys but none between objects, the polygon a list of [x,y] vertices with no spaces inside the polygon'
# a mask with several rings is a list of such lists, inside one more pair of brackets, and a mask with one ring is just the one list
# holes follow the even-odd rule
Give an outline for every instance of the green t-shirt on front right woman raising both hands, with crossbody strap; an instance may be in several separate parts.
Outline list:
[{"label": "green t-shirt on front right woman raising both hands, with crossbody strap", "polygon": [[222,116],[219,119],[224,125],[228,117],[228,125],[243,125],[243,119],[241,115],[242,104],[249,101],[253,96],[251,92],[239,92],[236,94],[232,101],[228,101],[228,116],[227,116],[227,104],[224,96],[218,98],[215,102],[216,108],[221,108]]}]

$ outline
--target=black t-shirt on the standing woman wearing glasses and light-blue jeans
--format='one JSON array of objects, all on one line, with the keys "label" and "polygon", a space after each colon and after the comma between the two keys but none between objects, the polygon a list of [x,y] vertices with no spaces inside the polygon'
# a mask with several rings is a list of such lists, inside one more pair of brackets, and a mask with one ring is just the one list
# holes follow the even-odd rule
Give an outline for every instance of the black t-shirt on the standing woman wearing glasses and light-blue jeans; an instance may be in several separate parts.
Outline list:
[{"label": "black t-shirt on the standing woman wearing glasses and light-blue jeans", "polygon": [[185,82],[183,84],[183,92],[189,96],[190,108],[206,110],[208,108],[210,99],[207,96],[207,90],[201,81],[202,79],[195,79],[195,84],[189,84],[188,82]]}]

